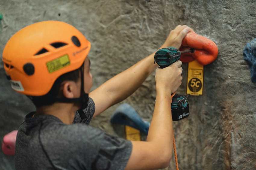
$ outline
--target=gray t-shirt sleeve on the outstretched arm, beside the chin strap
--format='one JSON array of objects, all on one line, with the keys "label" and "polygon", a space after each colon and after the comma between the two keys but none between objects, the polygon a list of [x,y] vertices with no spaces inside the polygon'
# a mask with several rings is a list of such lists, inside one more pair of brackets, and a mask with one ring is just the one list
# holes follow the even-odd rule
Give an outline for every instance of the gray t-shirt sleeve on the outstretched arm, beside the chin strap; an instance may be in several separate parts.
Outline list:
[{"label": "gray t-shirt sleeve on the outstretched arm, beside the chin strap", "polygon": [[89,97],[87,108],[83,109],[83,112],[85,113],[84,119],[82,119],[78,111],[76,111],[73,123],[85,123],[86,125],[89,125],[95,112],[95,103],[92,98]]}]

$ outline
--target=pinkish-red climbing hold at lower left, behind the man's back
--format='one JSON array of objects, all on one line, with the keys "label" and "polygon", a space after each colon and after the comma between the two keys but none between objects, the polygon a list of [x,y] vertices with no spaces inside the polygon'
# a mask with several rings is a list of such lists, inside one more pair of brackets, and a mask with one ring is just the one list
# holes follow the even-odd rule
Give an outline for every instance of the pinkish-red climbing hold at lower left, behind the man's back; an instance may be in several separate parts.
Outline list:
[{"label": "pinkish-red climbing hold at lower left, behind the man's back", "polygon": [[14,155],[17,130],[6,134],[3,138],[2,151],[6,155]]}]

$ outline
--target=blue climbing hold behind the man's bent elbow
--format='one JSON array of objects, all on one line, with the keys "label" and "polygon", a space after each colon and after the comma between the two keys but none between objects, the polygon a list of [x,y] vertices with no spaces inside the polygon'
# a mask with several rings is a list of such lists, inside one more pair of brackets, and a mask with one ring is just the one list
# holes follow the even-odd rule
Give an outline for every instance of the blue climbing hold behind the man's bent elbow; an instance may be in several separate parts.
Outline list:
[{"label": "blue climbing hold behind the man's bent elbow", "polygon": [[150,123],[142,120],[134,108],[128,104],[120,105],[111,116],[111,123],[131,126],[139,129],[142,133],[148,134]]}]

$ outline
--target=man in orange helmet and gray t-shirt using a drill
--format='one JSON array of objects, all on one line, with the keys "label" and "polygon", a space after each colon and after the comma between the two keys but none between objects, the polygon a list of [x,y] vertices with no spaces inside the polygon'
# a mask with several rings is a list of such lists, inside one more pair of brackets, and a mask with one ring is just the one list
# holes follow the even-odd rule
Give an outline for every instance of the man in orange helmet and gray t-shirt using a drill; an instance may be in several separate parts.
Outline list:
[{"label": "man in orange helmet and gray t-shirt using a drill", "polygon": [[[172,30],[161,48],[179,48],[186,25]],[[15,167],[20,169],[155,169],[172,155],[172,92],[181,85],[181,64],[160,69],[154,53],[90,92],[91,44],[73,26],[43,21],[15,33],[3,51],[11,87],[36,111],[18,129]],[[88,126],[92,117],[123,101],[156,70],[156,103],[147,141],[127,141]]]}]

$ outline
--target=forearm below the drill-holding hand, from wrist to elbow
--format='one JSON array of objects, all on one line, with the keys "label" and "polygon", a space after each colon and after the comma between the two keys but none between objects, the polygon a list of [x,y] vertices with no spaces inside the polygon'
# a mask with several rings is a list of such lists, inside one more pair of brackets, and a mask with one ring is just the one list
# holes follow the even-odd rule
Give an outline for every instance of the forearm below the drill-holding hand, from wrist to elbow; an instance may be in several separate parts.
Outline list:
[{"label": "forearm below the drill-holding hand, from wrist to elbow", "polygon": [[171,92],[157,90],[155,110],[148,131],[147,141],[159,146],[159,151],[172,153],[173,121],[171,116]]}]

